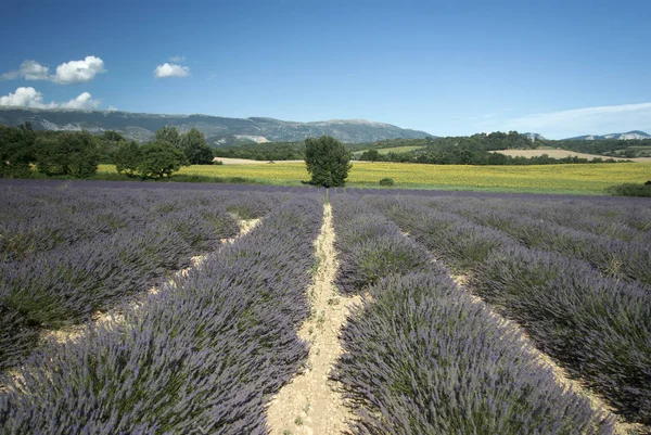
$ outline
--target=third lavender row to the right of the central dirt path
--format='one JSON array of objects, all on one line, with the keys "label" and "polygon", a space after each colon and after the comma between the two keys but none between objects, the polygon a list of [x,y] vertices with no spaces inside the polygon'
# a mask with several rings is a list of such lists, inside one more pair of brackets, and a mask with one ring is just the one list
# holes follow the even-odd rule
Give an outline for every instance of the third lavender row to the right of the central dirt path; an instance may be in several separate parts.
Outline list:
[{"label": "third lavender row to the right of the central dirt path", "polygon": [[[556,204],[523,205],[513,201],[429,200],[442,212],[454,213],[475,223],[495,228],[527,247],[559,252],[580,258],[604,274],[651,284],[651,214],[649,207],[615,210],[614,216],[599,213],[598,207],[566,206],[562,213]],[[531,212],[525,212],[531,206]],[[549,210],[548,210],[549,209]],[[625,222],[625,215],[648,216],[648,230],[637,230]],[[569,227],[578,227],[569,228]],[[609,234],[612,234],[609,235]],[[627,239],[627,241],[622,240]]]}]

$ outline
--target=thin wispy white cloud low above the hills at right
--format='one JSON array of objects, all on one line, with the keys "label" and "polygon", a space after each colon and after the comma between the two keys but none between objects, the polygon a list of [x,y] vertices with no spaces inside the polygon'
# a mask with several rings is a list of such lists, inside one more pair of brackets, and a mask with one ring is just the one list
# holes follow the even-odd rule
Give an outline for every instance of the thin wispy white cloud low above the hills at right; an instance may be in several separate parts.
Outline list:
[{"label": "thin wispy white cloud low above the hills at right", "polygon": [[503,124],[506,129],[534,131],[556,139],[648,129],[651,127],[651,103],[540,113],[513,118]]}]

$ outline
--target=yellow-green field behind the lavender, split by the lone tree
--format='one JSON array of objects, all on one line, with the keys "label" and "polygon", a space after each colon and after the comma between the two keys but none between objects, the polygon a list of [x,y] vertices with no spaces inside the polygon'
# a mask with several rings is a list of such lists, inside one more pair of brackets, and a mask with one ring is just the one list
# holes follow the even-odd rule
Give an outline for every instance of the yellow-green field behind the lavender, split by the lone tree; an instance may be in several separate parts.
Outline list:
[{"label": "yellow-green field behind the lavender, split by the lone tree", "polygon": [[[113,172],[101,165],[101,172]],[[206,165],[184,167],[179,174],[205,177],[242,177],[269,184],[298,185],[309,175],[303,163]],[[476,190],[498,192],[604,194],[603,189],[651,179],[651,163],[541,166],[465,166],[355,162],[348,187],[380,188],[390,177],[392,189]]]}]

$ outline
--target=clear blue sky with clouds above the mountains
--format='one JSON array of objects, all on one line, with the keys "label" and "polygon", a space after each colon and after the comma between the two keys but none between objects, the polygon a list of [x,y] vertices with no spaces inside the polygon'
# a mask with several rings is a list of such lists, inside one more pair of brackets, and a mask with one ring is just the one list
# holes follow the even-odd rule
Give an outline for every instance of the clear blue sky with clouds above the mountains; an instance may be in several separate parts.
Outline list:
[{"label": "clear blue sky with clouds above the mountains", "polygon": [[649,1],[9,2],[0,104],[651,132],[650,20]]}]

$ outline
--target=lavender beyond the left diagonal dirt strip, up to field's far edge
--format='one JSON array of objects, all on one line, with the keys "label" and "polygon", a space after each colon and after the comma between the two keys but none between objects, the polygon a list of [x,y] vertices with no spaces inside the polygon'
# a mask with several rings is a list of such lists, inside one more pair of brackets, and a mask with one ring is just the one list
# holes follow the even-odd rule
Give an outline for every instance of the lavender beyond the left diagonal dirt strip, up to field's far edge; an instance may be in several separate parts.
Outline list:
[{"label": "lavender beyond the left diagonal dirt strip, up to field's far edge", "polygon": [[233,212],[260,217],[285,199],[43,185],[0,197],[0,370],[43,329],[87,320],[237,235]]}]

